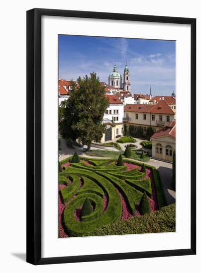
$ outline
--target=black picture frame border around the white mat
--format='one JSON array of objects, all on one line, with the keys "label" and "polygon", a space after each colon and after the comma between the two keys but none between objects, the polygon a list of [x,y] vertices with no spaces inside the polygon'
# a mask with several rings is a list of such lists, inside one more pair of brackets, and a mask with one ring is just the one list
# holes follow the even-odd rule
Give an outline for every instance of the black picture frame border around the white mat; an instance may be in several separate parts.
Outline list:
[{"label": "black picture frame border around the white mat", "polygon": [[[41,258],[41,17],[65,16],[191,25],[191,248]],[[34,8],[27,11],[27,262],[33,265],[196,254],[196,19]]]}]

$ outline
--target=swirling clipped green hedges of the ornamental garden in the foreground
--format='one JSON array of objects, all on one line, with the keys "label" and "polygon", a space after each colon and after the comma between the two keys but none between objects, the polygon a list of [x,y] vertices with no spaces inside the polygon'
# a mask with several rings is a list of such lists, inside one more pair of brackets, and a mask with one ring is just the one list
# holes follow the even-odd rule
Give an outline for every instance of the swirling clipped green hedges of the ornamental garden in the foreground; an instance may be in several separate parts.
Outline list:
[{"label": "swirling clipped green hedges of the ornamental garden in the foreground", "polygon": [[[153,197],[150,178],[145,177],[146,173],[139,171],[138,166],[127,170],[127,165],[117,166],[116,161],[80,160],[59,172],[59,184],[63,184],[59,194],[65,205],[62,225],[68,236],[84,236],[102,226],[119,222],[123,213],[120,194],[131,215],[136,215],[136,205],[139,207],[139,204],[141,215],[150,212],[148,197]],[[158,179],[158,174],[155,176]],[[158,180],[157,183],[160,191]],[[159,199],[165,204],[162,194]],[[80,216],[76,217],[79,210]]]}]

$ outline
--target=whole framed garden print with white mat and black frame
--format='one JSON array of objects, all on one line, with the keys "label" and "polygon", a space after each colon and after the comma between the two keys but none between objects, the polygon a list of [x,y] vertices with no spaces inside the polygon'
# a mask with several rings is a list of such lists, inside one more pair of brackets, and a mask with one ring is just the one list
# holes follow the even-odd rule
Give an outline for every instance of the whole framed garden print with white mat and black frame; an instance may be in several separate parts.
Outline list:
[{"label": "whole framed garden print with white mat and black frame", "polygon": [[27,11],[27,262],[196,254],[196,19]]}]

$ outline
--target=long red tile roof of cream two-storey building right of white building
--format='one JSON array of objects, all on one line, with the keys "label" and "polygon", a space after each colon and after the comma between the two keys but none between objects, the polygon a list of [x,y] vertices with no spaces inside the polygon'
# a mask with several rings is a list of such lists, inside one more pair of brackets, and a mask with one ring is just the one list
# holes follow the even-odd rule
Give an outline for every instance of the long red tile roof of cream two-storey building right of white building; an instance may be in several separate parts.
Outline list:
[{"label": "long red tile roof of cream two-storey building right of white building", "polygon": [[175,113],[167,105],[166,102],[160,101],[155,105],[152,104],[126,104],[124,106],[125,112],[142,112],[142,113],[155,113],[155,114],[170,114]]}]

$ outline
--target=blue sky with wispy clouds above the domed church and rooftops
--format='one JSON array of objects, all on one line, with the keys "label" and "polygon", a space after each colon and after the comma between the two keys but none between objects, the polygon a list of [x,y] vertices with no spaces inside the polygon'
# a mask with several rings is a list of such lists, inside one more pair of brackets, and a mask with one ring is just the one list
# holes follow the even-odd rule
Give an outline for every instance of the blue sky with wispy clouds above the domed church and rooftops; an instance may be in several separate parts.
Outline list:
[{"label": "blue sky with wispy clouds above the domed church and rooftops", "polygon": [[59,35],[59,78],[74,79],[95,71],[101,81],[116,64],[123,76],[127,60],[132,93],[175,92],[175,41]]}]

